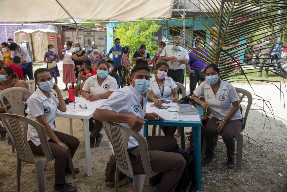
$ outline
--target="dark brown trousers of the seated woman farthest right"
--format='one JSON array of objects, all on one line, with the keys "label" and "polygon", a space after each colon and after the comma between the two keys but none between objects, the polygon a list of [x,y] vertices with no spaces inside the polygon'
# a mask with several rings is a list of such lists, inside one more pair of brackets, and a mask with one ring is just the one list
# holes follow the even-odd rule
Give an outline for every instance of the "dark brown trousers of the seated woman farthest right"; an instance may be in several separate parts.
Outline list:
[{"label": "dark brown trousers of the seated woman farthest right", "polygon": [[[212,157],[214,154],[213,145],[214,145],[214,137],[218,134],[218,124],[216,122],[219,119],[212,117],[205,129],[205,141],[206,141],[206,150],[205,156]],[[224,144],[227,147],[227,158],[230,160],[234,159],[234,148],[235,141],[234,137],[241,130],[242,127],[242,119],[231,120],[226,123],[224,128],[222,129],[222,139]]]}]

